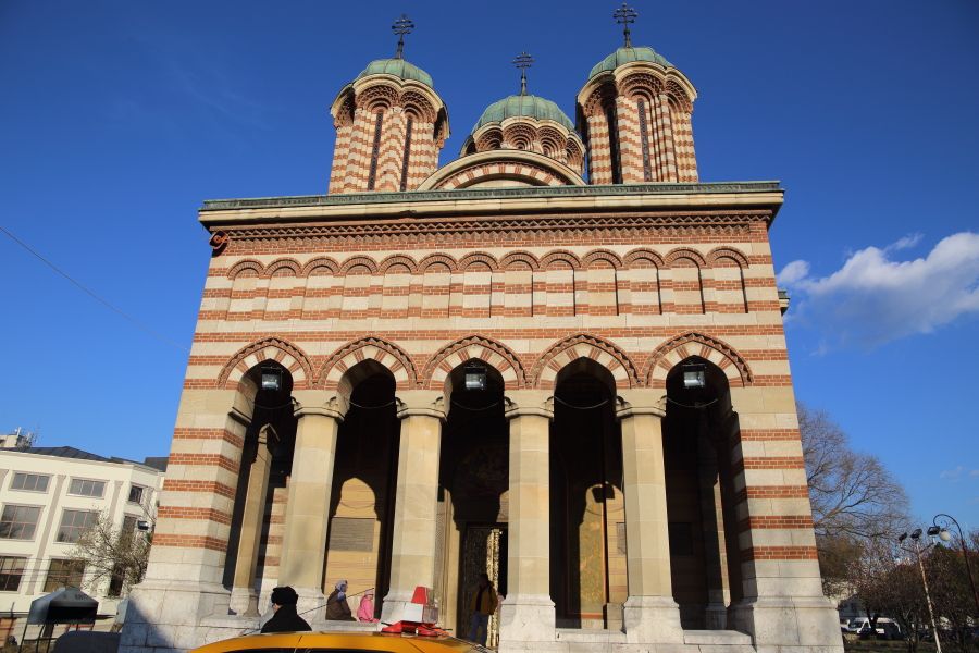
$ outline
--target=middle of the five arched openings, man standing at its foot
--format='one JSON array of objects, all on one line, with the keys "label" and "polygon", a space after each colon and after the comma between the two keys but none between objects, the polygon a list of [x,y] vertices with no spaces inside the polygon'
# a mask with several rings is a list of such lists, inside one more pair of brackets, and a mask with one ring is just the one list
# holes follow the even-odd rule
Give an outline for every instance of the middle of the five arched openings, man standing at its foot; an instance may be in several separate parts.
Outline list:
[{"label": "middle of the five arched openings, man standing at its foot", "polygon": [[[485,380],[482,387],[473,375]],[[509,431],[503,378],[485,362],[473,359],[453,370],[445,396],[435,582],[443,623],[464,637],[479,575],[485,571],[499,594],[507,593]],[[494,617],[491,645],[498,633]]]}]

